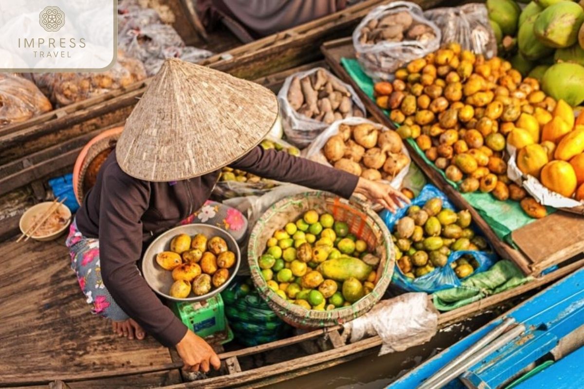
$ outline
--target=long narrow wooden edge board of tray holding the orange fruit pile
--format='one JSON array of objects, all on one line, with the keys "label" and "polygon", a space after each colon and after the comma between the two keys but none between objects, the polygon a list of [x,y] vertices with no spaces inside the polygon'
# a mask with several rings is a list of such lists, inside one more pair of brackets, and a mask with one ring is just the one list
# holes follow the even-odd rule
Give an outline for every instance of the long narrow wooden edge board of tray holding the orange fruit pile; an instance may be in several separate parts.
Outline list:
[{"label": "long narrow wooden edge board of tray holding the orange fruit pile", "polygon": [[[357,94],[359,94],[359,97],[361,97],[363,104],[373,115],[373,117],[385,126],[395,128],[390,118],[383,112],[383,110],[381,110],[381,108],[377,107],[377,104],[374,101],[372,101],[365,93],[363,93],[363,90],[357,86],[354,80],[347,74],[343,66],[340,64],[340,58],[342,57],[354,58],[352,40],[350,40],[350,38],[343,38],[336,41],[327,42],[322,46],[322,51],[324,52],[326,61],[328,62],[329,66],[331,66],[333,71],[341,79],[353,86]],[[533,269],[529,267],[529,260],[527,260],[527,258],[522,253],[520,253],[520,251],[510,247],[508,244],[500,240],[498,236],[496,236],[495,232],[491,229],[491,226],[485,222],[476,209],[468,204],[460,192],[447,183],[447,181],[444,180],[444,177],[442,177],[435,169],[433,169],[433,167],[429,166],[422,159],[422,157],[419,156],[418,153],[416,153],[415,150],[408,145],[408,143],[406,143],[406,146],[408,147],[412,161],[418,165],[418,167],[426,174],[430,181],[432,181],[433,184],[440,188],[440,190],[442,190],[444,194],[446,194],[446,196],[451,199],[454,205],[461,209],[468,209],[471,212],[472,219],[474,220],[475,224],[479,227],[482,233],[484,233],[486,239],[491,242],[493,248],[501,257],[515,262],[525,274],[537,274],[536,272],[534,273]],[[568,257],[564,258],[564,260],[575,254],[576,253],[572,253]]]}]

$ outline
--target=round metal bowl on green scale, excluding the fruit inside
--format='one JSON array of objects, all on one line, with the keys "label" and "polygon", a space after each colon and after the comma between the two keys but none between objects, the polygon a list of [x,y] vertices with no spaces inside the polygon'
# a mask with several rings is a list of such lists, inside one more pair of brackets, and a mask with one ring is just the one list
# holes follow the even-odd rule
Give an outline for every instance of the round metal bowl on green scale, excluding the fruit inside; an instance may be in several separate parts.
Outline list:
[{"label": "round metal bowl on green scale, excluding the fruit inside", "polygon": [[[171,285],[174,282],[172,279],[172,271],[161,268],[156,261],[156,255],[162,251],[169,251],[171,249],[172,238],[178,234],[187,234],[191,237],[196,234],[204,234],[204,236],[209,239],[214,236],[220,236],[225,239],[229,250],[235,253],[235,265],[229,269],[230,276],[223,285],[202,296],[194,296],[193,292],[190,292],[189,296],[192,297],[186,297],[185,299],[177,299],[176,297],[172,297],[167,294],[169,290],[171,290]],[[209,226],[206,224],[188,224],[174,227],[166,231],[165,233],[161,234],[161,236],[157,237],[157,239],[155,239],[150,244],[150,246],[148,246],[146,252],[144,253],[144,257],[142,258],[142,275],[144,276],[144,279],[150,288],[152,288],[154,292],[158,293],[162,297],[177,302],[196,302],[207,300],[221,292],[221,290],[227,288],[227,285],[235,277],[235,274],[237,274],[240,263],[241,253],[239,253],[239,246],[237,246],[237,241],[235,241],[235,239],[229,233],[218,227]]]}]

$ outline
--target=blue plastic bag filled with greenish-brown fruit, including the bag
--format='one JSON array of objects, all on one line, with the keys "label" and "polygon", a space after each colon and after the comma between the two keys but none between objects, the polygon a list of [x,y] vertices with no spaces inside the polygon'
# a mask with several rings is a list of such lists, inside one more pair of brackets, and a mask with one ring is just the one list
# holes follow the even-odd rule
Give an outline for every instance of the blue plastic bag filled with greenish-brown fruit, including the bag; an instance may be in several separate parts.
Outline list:
[{"label": "blue plastic bag filled with greenish-brown fruit, including the bag", "polygon": [[392,282],[404,290],[433,293],[461,286],[461,279],[491,268],[497,260],[472,228],[470,213],[456,213],[434,185],[426,185],[411,205],[380,216],[395,238]]}]

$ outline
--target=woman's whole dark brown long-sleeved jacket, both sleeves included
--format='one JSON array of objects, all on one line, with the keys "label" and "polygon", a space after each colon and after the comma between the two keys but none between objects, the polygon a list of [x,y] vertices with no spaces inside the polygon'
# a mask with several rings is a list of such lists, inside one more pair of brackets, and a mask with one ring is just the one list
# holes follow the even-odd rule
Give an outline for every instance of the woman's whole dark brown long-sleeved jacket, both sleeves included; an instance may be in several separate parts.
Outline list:
[{"label": "woman's whole dark brown long-sleeved jacket, both sleeves included", "polygon": [[[265,178],[331,191],[349,198],[359,178],[307,159],[260,146],[230,165]],[[79,231],[99,238],[103,283],[128,316],[165,346],[186,327],[140,276],[136,262],[157,234],[197,211],[211,195],[220,172],[175,183],[153,183],[124,173],[115,151],[99,171],[95,187],[77,212]]]}]

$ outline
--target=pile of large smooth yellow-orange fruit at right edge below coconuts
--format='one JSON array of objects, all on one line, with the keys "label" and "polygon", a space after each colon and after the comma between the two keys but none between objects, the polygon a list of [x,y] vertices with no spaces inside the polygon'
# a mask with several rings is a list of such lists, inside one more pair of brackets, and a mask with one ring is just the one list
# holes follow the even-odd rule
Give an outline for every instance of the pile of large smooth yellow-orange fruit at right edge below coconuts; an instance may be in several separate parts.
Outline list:
[{"label": "pile of large smooth yellow-orange fruit at right edge below coconuts", "polygon": [[528,124],[507,138],[518,150],[519,170],[551,191],[584,200],[584,114],[575,120],[572,107],[559,100],[549,121],[540,125],[529,117]]}]

